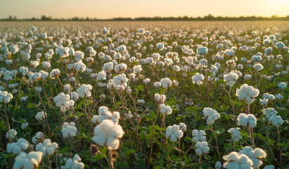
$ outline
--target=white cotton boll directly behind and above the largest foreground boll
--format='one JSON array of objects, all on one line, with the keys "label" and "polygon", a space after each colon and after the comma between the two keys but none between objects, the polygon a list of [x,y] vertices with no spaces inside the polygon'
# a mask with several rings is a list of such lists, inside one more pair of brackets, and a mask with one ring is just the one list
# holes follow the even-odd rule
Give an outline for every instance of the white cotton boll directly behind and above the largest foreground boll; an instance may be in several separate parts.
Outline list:
[{"label": "white cotton boll directly behind and above the largest foreground boll", "polygon": [[110,119],[113,123],[117,124],[120,119],[120,112],[118,111],[109,111],[108,107],[100,106],[98,108],[98,115],[94,115],[91,119],[93,123],[102,123],[103,120]]}]

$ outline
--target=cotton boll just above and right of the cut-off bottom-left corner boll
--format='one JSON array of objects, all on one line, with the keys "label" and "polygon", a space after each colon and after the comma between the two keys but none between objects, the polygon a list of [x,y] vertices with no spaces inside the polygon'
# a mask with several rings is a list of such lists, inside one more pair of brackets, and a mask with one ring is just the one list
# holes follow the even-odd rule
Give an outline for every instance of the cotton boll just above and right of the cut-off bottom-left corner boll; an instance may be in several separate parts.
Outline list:
[{"label": "cotton boll just above and right of the cut-off bottom-left corner boll", "polygon": [[45,156],[51,156],[58,149],[58,144],[56,142],[52,142],[50,139],[44,139],[44,141],[35,146],[36,151],[42,152],[42,158]]}]

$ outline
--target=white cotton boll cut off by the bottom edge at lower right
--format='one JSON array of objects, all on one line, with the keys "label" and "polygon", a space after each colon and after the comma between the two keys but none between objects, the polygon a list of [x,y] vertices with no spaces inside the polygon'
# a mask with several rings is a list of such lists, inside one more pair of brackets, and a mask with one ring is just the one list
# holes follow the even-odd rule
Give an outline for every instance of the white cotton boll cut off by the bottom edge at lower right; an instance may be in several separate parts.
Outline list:
[{"label": "white cotton boll cut off by the bottom edge at lower right", "polygon": [[223,156],[224,160],[226,161],[223,165],[224,168],[228,169],[253,169],[252,160],[246,156],[245,154],[238,154],[237,152],[233,151],[227,156]]}]

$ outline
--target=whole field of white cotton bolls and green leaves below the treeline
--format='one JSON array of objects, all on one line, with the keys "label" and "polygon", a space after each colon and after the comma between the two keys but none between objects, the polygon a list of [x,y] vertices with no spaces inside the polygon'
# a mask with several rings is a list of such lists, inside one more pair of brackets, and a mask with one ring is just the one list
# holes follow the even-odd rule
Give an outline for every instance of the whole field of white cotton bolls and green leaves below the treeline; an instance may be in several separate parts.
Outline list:
[{"label": "whole field of white cotton bolls and green leaves below the treeline", "polygon": [[2,168],[289,168],[289,23],[2,22]]}]

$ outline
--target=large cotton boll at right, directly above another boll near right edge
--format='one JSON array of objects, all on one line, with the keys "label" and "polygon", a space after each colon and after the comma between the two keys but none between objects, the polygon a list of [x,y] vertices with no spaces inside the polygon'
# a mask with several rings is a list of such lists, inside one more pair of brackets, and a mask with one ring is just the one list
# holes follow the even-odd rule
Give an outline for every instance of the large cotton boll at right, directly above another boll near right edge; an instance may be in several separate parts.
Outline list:
[{"label": "large cotton boll at right, directly above another boll near right edge", "polygon": [[240,89],[237,89],[236,96],[238,99],[247,101],[248,104],[252,104],[255,100],[254,98],[258,96],[259,90],[255,89],[252,86],[248,86],[248,84],[243,84]]}]

